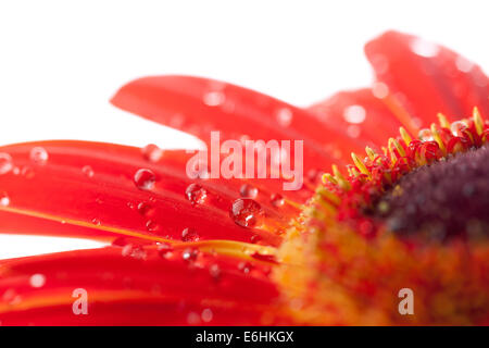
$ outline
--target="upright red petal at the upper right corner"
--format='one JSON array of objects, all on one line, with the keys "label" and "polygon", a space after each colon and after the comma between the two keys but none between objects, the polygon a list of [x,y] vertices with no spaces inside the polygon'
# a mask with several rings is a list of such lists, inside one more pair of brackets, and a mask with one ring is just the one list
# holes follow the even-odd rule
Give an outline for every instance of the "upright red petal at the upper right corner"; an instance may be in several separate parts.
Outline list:
[{"label": "upright red petal at the upper right corner", "polygon": [[397,32],[365,46],[378,80],[387,84],[423,127],[472,115],[475,105],[489,114],[489,80],[478,65],[455,52]]}]

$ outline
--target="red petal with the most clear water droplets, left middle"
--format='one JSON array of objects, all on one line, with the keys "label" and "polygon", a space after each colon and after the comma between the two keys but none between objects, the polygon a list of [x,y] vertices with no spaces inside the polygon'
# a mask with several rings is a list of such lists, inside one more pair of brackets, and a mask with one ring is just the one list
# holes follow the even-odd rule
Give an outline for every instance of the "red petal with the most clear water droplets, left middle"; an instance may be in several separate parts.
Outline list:
[{"label": "red petal with the most clear water droplets, left middle", "polygon": [[[47,163],[29,159],[34,147],[46,149]],[[180,240],[188,227],[200,239],[250,241],[258,235],[263,244],[280,240],[273,232],[235,224],[229,209],[238,190],[231,195],[229,185],[220,181],[201,181],[209,190],[208,200],[192,206],[185,195],[195,182],[185,173],[189,158],[185,151],[166,151],[160,163],[146,161],[137,148],[84,141],[21,144],[3,147],[0,152],[10,153],[21,172],[0,175],[0,187],[10,199],[8,206],[0,204],[2,232]],[[86,165],[92,175],[83,171]],[[139,169],[154,173],[153,189],[136,187],[134,175]],[[140,203],[151,208],[138,209]],[[264,208],[268,229],[288,223],[277,209]],[[272,224],[274,228],[269,228]]]}]

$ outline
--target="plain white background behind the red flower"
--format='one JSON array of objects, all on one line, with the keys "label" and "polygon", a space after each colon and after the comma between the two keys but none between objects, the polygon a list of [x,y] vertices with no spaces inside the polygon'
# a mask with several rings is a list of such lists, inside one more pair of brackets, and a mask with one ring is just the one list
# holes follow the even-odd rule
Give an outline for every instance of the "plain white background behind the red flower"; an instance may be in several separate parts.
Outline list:
[{"label": "plain white background behind the red flower", "polygon": [[[390,28],[449,46],[488,71],[488,10],[484,0],[1,0],[0,145],[70,138],[195,147],[192,137],[118,111],[109,98],[136,77],[189,74],[306,105],[367,85],[363,45]],[[95,245],[0,236],[0,258]]]}]

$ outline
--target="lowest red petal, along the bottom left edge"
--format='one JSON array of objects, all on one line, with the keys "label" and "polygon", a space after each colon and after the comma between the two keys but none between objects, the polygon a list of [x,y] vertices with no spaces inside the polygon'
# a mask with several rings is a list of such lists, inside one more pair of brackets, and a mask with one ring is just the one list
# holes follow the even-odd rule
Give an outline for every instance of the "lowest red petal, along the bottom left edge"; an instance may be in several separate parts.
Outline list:
[{"label": "lowest red petal, along the bottom left edge", "polygon": [[[4,325],[256,325],[279,316],[269,265],[183,248],[123,256],[122,248],[82,250],[1,263]],[[251,262],[251,261],[249,261]],[[250,263],[251,264],[251,263]],[[101,266],[103,265],[103,266]],[[250,268],[250,266],[249,266]],[[33,275],[41,282],[34,282]],[[73,290],[88,295],[88,314],[75,315]]]}]

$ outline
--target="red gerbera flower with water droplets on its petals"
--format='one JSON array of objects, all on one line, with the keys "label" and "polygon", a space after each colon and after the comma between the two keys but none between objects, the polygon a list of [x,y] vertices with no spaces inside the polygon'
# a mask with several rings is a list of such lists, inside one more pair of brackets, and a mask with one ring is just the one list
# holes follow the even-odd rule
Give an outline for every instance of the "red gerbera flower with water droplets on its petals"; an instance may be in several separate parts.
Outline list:
[{"label": "red gerbera flower with water droplets on its petals", "polygon": [[191,154],[155,146],[2,147],[1,232],[111,246],[0,261],[1,323],[489,323],[488,78],[394,32],[365,51],[373,87],[309,109],[183,76],[112,99],[204,141],[304,140],[300,190],[284,177],[190,179]]}]

